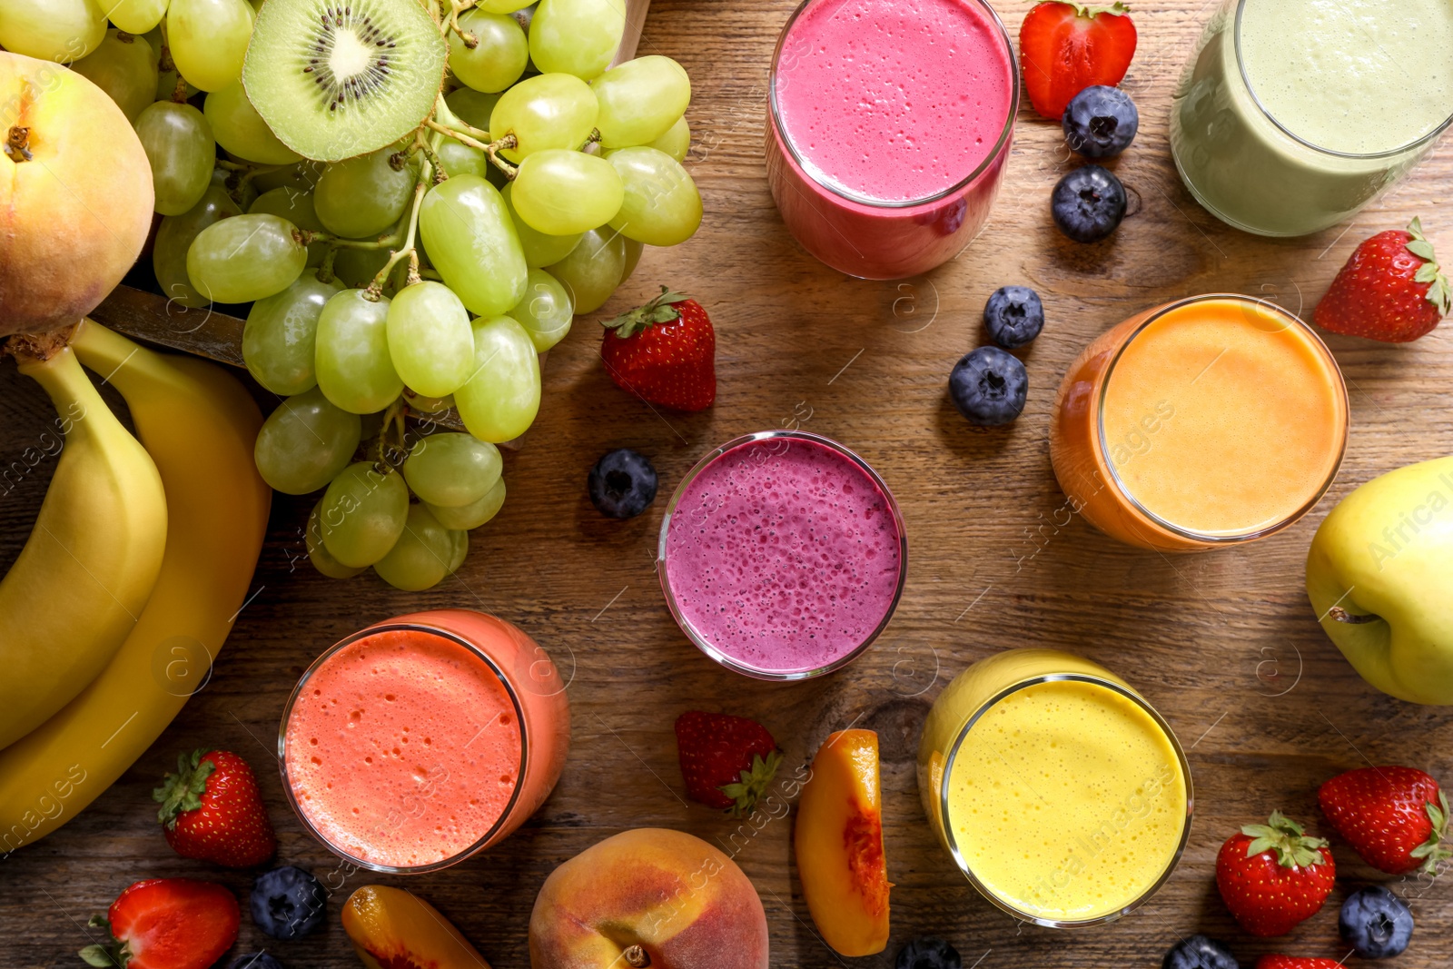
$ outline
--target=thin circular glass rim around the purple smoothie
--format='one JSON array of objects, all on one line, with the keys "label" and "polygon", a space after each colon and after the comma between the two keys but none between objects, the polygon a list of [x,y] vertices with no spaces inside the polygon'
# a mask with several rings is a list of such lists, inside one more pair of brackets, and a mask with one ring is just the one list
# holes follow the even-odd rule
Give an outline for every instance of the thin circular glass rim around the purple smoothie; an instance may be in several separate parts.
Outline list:
[{"label": "thin circular glass rim around the purple smoothie", "polygon": [[[670,533],[671,522],[676,517],[676,507],[680,504],[690,484],[696,481],[696,478],[709,465],[715,463],[718,458],[722,458],[726,453],[737,450],[738,447],[744,447],[747,445],[753,445],[761,440],[779,440],[779,439],[805,440],[814,445],[821,445],[828,450],[833,450],[837,455],[847,458],[847,461],[853,466],[856,466],[865,475],[867,475],[867,479],[872,481],[873,485],[879,490],[879,492],[882,492],[882,495],[886,498],[888,511],[892,514],[894,526],[898,529],[898,584],[894,587],[894,597],[892,601],[888,603],[888,610],[883,613],[883,617],[873,628],[873,631],[867,633],[863,642],[857,644],[850,651],[837,657],[831,662],[827,662],[821,667],[815,667],[812,670],[789,670],[789,671],[763,670],[760,667],[747,665],[745,662],[728,657],[725,652],[712,645],[712,642],[705,635],[697,632],[697,629],[692,625],[692,620],[686,617],[680,603],[677,601],[676,591],[671,588],[671,580],[667,577],[667,568],[665,568],[667,535]],[[671,619],[674,619],[676,625],[681,629],[683,633],[686,633],[686,638],[692,641],[692,645],[700,649],[706,657],[713,660],[716,664],[726,667],[728,670],[732,670],[735,673],[753,677],[756,680],[770,680],[776,683],[811,680],[814,677],[825,676],[835,670],[841,670],[849,662],[860,657],[863,651],[866,651],[867,646],[873,645],[878,636],[881,636],[883,631],[888,629],[888,623],[892,622],[894,613],[898,612],[898,603],[902,601],[904,585],[908,581],[908,530],[904,526],[902,513],[898,508],[898,500],[894,498],[894,492],[889,491],[888,482],[883,481],[879,477],[879,474],[873,471],[872,465],[863,461],[863,458],[859,456],[856,452],[850,450],[849,447],[844,447],[831,437],[824,437],[822,434],[814,434],[805,430],[760,430],[751,434],[741,434],[740,437],[732,437],[725,445],[721,445],[706,452],[706,455],[703,455],[700,459],[697,459],[695,465],[692,465],[692,469],[686,472],[680,484],[676,485],[676,491],[671,492],[671,501],[665,506],[665,516],[661,519],[661,532],[657,540],[657,554],[655,554],[655,574],[657,578],[661,581],[661,593],[665,596],[667,609],[671,610]]]}]

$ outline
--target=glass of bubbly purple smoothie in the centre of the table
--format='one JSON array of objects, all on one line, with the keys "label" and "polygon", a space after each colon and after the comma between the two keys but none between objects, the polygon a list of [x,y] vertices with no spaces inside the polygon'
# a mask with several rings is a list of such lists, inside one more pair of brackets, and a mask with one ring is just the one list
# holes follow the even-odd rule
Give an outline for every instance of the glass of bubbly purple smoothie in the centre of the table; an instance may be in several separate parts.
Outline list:
[{"label": "glass of bubbly purple smoothie in the centre of the table", "polygon": [[898,506],[862,458],[817,434],[763,431],[686,475],[657,571],[706,655],[798,680],[849,662],[882,632],[905,565]]}]

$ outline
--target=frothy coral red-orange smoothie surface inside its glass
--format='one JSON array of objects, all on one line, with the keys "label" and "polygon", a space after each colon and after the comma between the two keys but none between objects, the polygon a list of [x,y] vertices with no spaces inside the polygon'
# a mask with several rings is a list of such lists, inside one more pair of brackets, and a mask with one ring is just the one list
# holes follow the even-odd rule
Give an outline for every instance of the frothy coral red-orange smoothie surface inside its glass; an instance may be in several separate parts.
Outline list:
[{"label": "frothy coral red-orange smoothie surface inside its glass", "polygon": [[349,854],[432,864],[482,838],[519,782],[520,726],[494,671],[426,632],[379,632],[334,654],[288,718],[288,782]]}]

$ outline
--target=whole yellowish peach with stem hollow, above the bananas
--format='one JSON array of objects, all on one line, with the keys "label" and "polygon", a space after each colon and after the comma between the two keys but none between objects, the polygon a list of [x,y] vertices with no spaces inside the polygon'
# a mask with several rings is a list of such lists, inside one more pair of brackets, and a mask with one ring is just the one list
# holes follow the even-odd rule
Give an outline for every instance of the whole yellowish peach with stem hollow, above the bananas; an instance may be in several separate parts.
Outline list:
[{"label": "whole yellowish peach with stem hollow, above the bananas", "polygon": [[0,52],[0,337],[78,323],[151,227],[151,166],[131,122],[60,64]]}]

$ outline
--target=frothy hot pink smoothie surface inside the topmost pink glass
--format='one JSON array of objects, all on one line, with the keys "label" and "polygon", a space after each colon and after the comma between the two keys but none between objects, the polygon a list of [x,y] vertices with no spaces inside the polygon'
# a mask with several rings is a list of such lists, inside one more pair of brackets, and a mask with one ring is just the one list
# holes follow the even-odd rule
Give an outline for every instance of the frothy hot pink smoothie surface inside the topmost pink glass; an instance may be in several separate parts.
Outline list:
[{"label": "frothy hot pink smoothie surface inside the topmost pink glass", "polygon": [[974,0],[819,0],[777,65],[782,126],[809,174],[851,195],[937,195],[988,157],[1014,65]]}]

